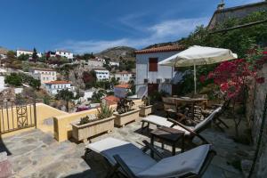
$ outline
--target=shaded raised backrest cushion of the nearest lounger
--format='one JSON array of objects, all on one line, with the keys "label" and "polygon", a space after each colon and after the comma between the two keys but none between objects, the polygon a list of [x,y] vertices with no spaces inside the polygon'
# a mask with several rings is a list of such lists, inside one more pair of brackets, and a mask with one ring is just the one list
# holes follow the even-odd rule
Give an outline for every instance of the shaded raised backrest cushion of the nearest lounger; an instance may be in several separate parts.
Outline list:
[{"label": "shaded raised backrest cushion of the nearest lounger", "polygon": [[161,159],[156,165],[137,174],[140,178],[178,177],[184,174],[198,174],[211,145],[201,145],[170,158]]}]

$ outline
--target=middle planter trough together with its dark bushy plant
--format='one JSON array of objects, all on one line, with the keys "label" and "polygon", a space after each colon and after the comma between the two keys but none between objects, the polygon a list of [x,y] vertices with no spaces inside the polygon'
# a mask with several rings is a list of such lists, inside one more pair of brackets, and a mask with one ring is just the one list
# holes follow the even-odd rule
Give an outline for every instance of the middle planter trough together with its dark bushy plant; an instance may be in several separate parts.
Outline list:
[{"label": "middle planter trough together with its dark bushy plant", "polygon": [[117,113],[115,116],[115,125],[125,126],[125,124],[135,121],[139,118],[140,109],[133,109],[134,101],[121,98],[117,102]]}]

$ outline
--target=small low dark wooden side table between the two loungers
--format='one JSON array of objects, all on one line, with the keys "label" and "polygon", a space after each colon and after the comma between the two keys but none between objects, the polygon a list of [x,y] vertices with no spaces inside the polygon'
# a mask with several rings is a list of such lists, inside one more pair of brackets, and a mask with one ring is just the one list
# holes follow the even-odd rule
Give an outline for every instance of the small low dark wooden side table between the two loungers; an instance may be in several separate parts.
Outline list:
[{"label": "small low dark wooden side table between the two loungers", "polygon": [[[162,147],[164,147],[164,142],[168,142],[172,144],[172,154],[175,155],[175,149],[177,142],[182,139],[182,152],[184,151],[184,132],[166,127],[166,126],[160,126],[156,130],[153,130],[150,132],[151,134],[151,145],[154,145],[155,138],[159,139],[162,142]],[[154,157],[153,152],[151,152],[151,157]]]}]

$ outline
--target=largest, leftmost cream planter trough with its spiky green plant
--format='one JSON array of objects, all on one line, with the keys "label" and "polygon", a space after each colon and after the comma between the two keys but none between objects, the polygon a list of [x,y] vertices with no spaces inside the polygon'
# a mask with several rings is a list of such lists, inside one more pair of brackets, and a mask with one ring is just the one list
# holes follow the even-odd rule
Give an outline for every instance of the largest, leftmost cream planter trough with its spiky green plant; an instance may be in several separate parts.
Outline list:
[{"label": "largest, leftmost cream planter trough with its spiky green plant", "polygon": [[109,133],[114,129],[113,109],[107,104],[101,104],[96,115],[81,117],[72,123],[72,136],[77,141],[87,142],[87,139],[101,133]]}]

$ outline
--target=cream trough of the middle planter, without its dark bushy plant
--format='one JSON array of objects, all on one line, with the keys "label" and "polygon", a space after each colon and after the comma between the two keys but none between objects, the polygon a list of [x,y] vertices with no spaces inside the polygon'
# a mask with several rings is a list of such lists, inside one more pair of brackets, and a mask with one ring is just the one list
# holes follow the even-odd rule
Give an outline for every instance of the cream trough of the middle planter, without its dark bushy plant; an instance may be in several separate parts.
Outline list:
[{"label": "cream trough of the middle planter, without its dark bushy plant", "polygon": [[140,109],[134,109],[130,112],[126,112],[124,114],[114,113],[115,116],[115,125],[117,126],[125,126],[125,124],[135,121],[139,118]]}]

